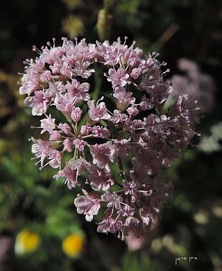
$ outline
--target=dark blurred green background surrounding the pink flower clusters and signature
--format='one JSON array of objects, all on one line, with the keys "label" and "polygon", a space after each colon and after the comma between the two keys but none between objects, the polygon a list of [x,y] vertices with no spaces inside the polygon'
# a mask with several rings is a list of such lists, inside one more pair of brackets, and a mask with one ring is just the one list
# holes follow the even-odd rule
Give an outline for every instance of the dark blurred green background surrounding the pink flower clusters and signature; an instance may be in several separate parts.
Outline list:
[{"label": "dark blurred green background surrounding the pink flower clusters and signature", "polygon": [[[144,246],[132,251],[78,216],[62,180],[31,161],[37,124],[19,96],[17,73],[52,37],[87,42],[128,36],[144,53],[160,52],[169,78],[179,58],[216,82],[214,105],[200,112],[194,139],[165,173],[174,191]],[[0,270],[222,270],[221,0],[10,0],[0,10]],[[203,85],[203,88],[205,86]],[[37,132],[36,132],[37,133]],[[189,256],[196,256],[189,262]],[[177,261],[176,257],[187,257]]]}]

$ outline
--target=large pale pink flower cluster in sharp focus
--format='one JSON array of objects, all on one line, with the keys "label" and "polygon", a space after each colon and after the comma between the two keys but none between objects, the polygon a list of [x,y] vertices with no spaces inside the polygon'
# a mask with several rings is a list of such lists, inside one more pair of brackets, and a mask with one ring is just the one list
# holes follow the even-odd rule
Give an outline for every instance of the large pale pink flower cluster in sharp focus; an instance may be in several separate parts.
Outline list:
[{"label": "large pale pink flower cluster in sharp focus", "polygon": [[[58,168],[54,177],[69,189],[80,186],[74,204],[87,221],[101,210],[99,232],[124,238],[147,231],[171,193],[163,169],[196,134],[197,102],[184,95],[166,106],[173,91],[161,71],[166,63],[157,53],[143,57],[135,43],[62,41],[33,47],[39,56],[26,60],[19,89],[33,115],[43,116],[41,134],[48,137],[32,138],[36,164]],[[104,76],[109,100],[91,98],[95,72]],[[66,121],[56,121],[51,107]]]}]

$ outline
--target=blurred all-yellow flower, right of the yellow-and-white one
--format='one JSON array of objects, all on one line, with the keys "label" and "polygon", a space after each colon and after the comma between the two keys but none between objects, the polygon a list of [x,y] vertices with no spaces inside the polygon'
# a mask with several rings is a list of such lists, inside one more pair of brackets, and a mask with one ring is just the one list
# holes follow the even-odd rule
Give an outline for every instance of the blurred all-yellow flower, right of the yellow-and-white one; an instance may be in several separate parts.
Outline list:
[{"label": "blurred all-yellow flower, right of the yellow-and-white one", "polygon": [[71,257],[76,257],[83,251],[84,237],[79,234],[69,234],[62,241],[62,250]]}]

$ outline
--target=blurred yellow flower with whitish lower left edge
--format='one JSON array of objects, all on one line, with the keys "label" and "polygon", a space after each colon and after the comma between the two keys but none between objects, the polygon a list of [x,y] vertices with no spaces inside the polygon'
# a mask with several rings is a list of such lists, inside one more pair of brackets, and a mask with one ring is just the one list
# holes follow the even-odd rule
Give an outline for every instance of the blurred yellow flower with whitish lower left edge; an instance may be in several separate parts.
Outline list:
[{"label": "blurred yellow flower with whitish lower left edge", "polygon": [[33,252],[40,245],[40,236],[39,234],[23,230],[20,231],[17,235],[15,241],[15,253],[16,254],[25,254],[28,252]]}]

